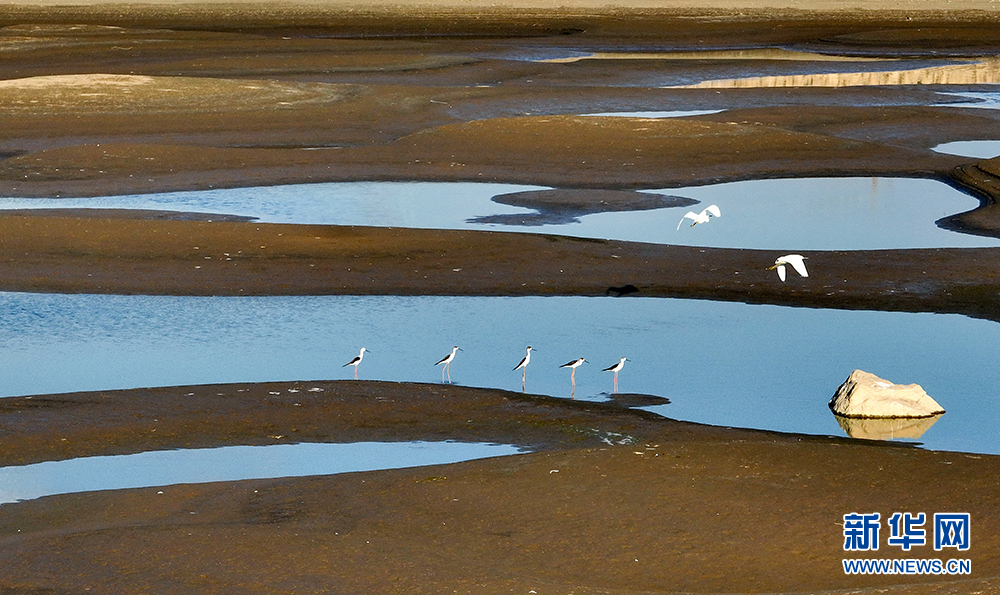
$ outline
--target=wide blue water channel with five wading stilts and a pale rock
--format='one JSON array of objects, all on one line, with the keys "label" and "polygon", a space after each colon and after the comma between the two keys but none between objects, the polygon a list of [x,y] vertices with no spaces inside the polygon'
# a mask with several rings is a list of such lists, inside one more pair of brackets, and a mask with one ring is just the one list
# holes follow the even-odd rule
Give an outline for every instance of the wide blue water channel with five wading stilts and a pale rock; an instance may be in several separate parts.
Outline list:
[{"label": "wide blue water channel with five wading stilts and a pale rock", "polygon": [[[502,321],[497,324],[496,321]],[[622,392],[710,424],[844,435],[827,402],[855,368],[917,383],[947,411],[928,448],[1000,454],[1000,324],[952,314],[653,298],[151,297],[0,293],[3,396],[222,382],[349,379],[606,398]]]}]

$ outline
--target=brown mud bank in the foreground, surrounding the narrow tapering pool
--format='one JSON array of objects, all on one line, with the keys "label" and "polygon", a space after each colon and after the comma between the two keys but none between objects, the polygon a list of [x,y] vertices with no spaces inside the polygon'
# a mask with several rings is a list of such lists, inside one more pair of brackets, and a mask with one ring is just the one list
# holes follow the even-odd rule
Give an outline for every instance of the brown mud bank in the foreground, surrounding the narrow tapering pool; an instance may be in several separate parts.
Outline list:
[{"label": "brown mud bank in the foreground, surrounding the narrow tapering pool", "polygon": [[[1000,569],[997,457],[440,385],[215,385],[0,405],[18,431],[0,438],[8,463],[295,441],[532,451],[4,504],[0,584],[13,592],[993,592]],[[895,510],[969,512],[973,547],[952,557],[971,560],[972,576],[845,575],[843,558],[871,553],[844,551],[843,516]],[[879,558],[917,551],[884,539]]]}]

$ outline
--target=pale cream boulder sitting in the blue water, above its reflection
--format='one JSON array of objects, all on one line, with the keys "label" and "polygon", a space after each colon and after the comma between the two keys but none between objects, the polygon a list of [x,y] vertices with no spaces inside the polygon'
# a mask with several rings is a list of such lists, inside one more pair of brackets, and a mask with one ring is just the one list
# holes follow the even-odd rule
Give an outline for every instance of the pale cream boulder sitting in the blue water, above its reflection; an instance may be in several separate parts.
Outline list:
[{"label": "pale cream boulder sitting in the blue water, above its reflection", "polygon": [[930,417],[944,413],[919,384],[893,384],[855,370],[830,399],[830,409],[843,417]]}]

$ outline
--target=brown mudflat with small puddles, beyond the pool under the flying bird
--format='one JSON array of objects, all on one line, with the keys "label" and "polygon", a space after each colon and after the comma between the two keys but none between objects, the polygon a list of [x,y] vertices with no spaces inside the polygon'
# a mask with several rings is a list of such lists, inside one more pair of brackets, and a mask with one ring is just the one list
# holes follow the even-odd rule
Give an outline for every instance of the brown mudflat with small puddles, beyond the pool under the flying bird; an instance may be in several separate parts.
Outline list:
[{"label": "brown mudflat with small puddles, beyond the pool under the flying bird", "polygon": [[[948,178],[969,160],[930,147],[1000,134],[994,110],[926,107],[947,102],[934,90],[949,86],[723,96],[661,87],[732,70],[726,59],[537,61],[618,46],[659,56],[652,52],[664,44],[688,53],[747,44],[911,57],[916,50],[895,41],[907,34],[921,52],[932,46],[942,58],[967,59],[997,51],[990,13],[499,11],[471,19],[377,14],[376,25],[364,11],[313,8],[279,18],[252,6],[221,21],[215,15],[204,30],[199,14],[211,9],[197,6],[133,6],[118,16],[103,6],[5,10],[9,22],[38,23],[0,32],[12,49],[0,59],[0,153],[9,156],[0,162],[0,193],[13,196],[358,179],[620,189],[778,176]],[[145,19],[159,27],[147,29]],[[727,111],[578,117],[670,108]]]}]

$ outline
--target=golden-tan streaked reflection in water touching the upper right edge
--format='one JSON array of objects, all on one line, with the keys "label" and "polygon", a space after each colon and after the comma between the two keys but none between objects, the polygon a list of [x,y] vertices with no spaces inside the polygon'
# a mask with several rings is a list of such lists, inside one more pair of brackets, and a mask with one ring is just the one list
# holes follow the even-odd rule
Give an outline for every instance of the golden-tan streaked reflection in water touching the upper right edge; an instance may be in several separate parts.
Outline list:
[{"label": "golden-tan streaked reflection in water touching the upper right edge", "polygon": [[1000,57],[968,64],[912,70],[829,72],[702,81],[673,89],[757,89],[771,87],[863,87],[884,85],[979,85],[1000,83]]}]

